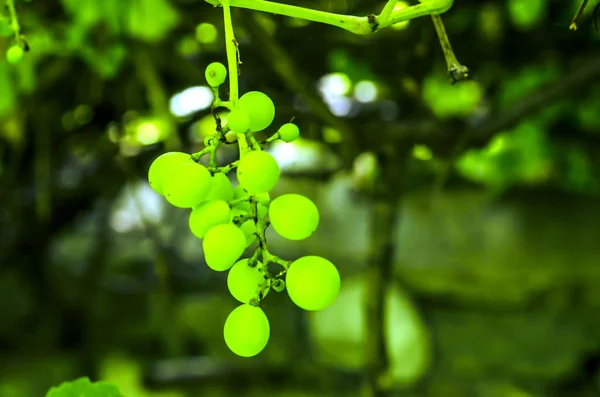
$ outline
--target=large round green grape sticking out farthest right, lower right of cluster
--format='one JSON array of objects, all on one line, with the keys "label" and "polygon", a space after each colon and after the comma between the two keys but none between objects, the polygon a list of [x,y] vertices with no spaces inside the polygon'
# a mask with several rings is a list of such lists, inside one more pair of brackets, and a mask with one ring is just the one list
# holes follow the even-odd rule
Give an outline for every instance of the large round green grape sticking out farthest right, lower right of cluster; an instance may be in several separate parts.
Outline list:
[{"label": "large round green grape sticking out farthest right, lower right of cluster", "polygon": [[285,284],[296,306],[304,310],[323,310],[340,292],[340,274],[325,258],[303,256],[290,265]]}]

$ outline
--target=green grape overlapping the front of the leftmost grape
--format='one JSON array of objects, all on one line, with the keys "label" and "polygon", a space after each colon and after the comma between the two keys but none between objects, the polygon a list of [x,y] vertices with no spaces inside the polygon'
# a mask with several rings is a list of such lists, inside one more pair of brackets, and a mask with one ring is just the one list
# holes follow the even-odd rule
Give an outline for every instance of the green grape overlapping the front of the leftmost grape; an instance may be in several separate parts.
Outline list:
[{"label": "green grape overlapping the front of the leftmost grape", "polygon": [[185,162],[171,169],[164,182],[169,203],[179,208],[194,208],[210,190],[210,172],[201,164]]}]

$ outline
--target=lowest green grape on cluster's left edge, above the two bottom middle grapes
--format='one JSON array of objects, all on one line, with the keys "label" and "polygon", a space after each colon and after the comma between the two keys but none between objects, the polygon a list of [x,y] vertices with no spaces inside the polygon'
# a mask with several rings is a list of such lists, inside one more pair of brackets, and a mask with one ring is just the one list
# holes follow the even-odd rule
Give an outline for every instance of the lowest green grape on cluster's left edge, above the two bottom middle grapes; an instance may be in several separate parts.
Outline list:
[{"label": "lowest green grape on cluster's left edge, above the two bottom middle grapes", "polygon": [[202,249],[208,267],[224,272],[244,253],[246,236],[233,223],[217,225],[204,235]]}]

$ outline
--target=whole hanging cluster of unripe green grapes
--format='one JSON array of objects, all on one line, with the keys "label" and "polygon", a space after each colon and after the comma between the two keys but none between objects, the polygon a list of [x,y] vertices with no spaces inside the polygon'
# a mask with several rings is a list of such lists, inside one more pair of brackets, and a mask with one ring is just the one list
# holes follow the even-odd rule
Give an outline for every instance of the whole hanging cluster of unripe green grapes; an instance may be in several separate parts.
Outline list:
[{"label": "whole hanging cluster of unripe green grapes", "polygon": [[[218,99],[218,87],[226,79],[225,66],[211,63],[205,72],[208,84]],[[336,299],[340,290],[337,268],[319,256],[304,256],[295,261],[283,260],[269,252],[265,229],[270,225],[283,238],[303,240],[319,225],[319,210],[307,197],[284,194],[271,200],[269,192],[280,177],[275,158],[262,150],[254,132],[268,128],[275,117],[273,101],[264,93],[251,91],[237,103],[223,103],[230,114],[227,125],[217,127],[207,147],[195,154],[168,152],[159,156],[148,171],[150,186],[169,203],[191,209],[189,227],[202,240],[206,264],[212,270],[229,270],[227,287],[241,303],[224,326],[225,343],[242,357],[260,353],[269,340],[269,320],[260,308],[260,301],[272,289],[287,290],[292,302],[304,310],[322,310]],[[240,140],[240,160],[218,167],[214,152],[225,141],[225,134],[235,133]],[[292,142],[300,131],[286,123],[267,142],[281,139]],[[199,163],[204,154],[211,154],[208,166]],[[236,169],[239,185],[233,187],[227,174]],[[242,258],[254,247],[248,258]],[[281,267],[273,273],[268,265]],[[285,277],[285,278],[284,278]]]}]

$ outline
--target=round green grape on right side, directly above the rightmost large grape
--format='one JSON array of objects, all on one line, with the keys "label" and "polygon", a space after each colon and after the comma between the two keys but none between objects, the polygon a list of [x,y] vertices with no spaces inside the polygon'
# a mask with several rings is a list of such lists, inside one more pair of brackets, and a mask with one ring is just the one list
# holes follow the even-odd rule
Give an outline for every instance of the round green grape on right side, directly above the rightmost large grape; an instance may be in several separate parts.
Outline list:
[{"label": "round green grape on right side, directly above the rightmost large grape", "polygon": [[273,229],[288,240],[304,240],[319,226],[315,203],[300,194],[284,194],[271,202],[269,220]]}]

